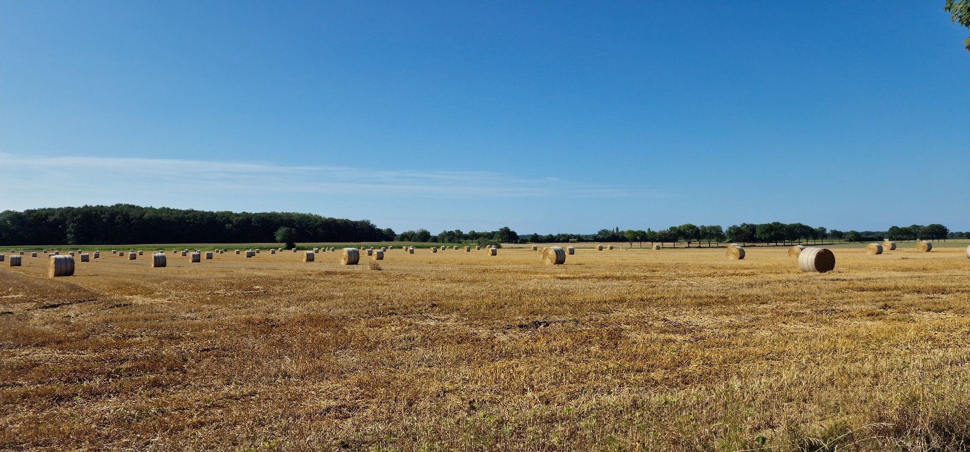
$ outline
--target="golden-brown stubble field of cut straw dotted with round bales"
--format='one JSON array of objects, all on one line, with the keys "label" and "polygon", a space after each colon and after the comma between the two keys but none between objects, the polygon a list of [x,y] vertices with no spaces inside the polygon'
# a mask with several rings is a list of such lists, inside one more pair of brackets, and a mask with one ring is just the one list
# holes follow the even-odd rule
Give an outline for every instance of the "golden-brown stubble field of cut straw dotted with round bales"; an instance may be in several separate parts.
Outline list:
[{"label": "golden-brown stubble field of cut straw dotted with round bales", "polygon": [[965,450],[964,249],[724,252],[24,258],[0,450]]}]

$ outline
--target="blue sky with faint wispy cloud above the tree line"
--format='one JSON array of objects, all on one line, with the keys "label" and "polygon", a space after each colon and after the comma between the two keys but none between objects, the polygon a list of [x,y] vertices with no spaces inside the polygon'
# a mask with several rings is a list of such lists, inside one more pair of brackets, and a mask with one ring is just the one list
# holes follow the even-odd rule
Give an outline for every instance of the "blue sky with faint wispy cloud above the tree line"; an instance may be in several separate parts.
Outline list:
[{"label": "blue sky with faint wispy cloud above the tree line", "polygon": [[0,1],[0,210],[966,231],[943,4]]}]

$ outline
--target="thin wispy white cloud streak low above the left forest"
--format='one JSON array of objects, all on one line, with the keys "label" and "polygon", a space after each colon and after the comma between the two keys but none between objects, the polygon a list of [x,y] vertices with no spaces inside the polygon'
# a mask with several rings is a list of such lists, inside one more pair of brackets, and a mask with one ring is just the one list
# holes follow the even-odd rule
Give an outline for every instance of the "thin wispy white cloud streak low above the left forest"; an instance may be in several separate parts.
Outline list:
[{"label": "thin wispy white cloud streak low above the left forest", "polygon": [[[22,156],[0,153],[0,164],[21,174],[57,180],[58,190],[91,193],[312,194],[438,199],[546,197],[666,197],[641,187],[588,184],[565,178],[510,177],[488,171],[394,171],[268,162],[159,158]],[[43,190],[41,190],[43,192]],[[28,193],[24,195],[29,196]]]}]

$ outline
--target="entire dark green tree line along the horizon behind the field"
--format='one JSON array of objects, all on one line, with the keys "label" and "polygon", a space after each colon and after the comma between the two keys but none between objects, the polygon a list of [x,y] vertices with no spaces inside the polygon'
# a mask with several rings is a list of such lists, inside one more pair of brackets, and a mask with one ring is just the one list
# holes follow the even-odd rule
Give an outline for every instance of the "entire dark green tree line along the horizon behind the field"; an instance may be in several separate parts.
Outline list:
[{"label": "entire dark green tree line along the horizon behind the field", "polygon": [[378,229],[368,220],[328,218],[294,212],[231,212],[143,208],[118,204],[0,212],[0,245],[16,244],[123,244],[123,243],[253,243],[253,242],[687,242],[792,243],[872,242],[889,239],[946,240],[970,238],[942,224],[892,226],[884,232],[838,231],[801,223],[691,223],[652,229],[621,231],[601,229],[596,234],[532,234],[519,236],[508,227],[497,231],[394,231]]}]

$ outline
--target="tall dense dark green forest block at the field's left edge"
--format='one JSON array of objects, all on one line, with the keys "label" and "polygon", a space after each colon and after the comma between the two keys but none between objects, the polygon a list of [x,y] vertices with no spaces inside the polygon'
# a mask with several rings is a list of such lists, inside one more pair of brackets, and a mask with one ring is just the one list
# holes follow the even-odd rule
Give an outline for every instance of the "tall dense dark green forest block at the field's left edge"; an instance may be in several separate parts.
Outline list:
[{"label": "tall dense dark green forest block at the field's left edge", "polygon": [[298,242],[379,242],[394,231],[368,220],[310,213],[143,208],[117,204],[0,212],[0,244],[274,242],[281,227]]}]

